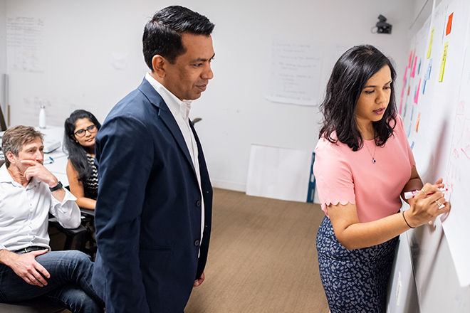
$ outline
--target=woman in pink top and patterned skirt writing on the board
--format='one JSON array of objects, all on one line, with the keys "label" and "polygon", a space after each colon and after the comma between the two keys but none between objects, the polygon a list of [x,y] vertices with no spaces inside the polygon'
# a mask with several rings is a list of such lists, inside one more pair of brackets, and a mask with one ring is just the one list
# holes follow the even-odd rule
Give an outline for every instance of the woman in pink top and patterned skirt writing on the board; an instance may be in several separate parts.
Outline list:
[{"label": "woman in pink top and patterned skirt writing on the board", "polygon": [[[419,178],[394,81],[385,55],[355,46],[335,64],[321,105],[313,170],[326,216],[317,250],[332,313],[385,312],[398,235],[450,209],[442,179],[423,186]],[[414,189],[422,192],[399,213],[399,196]]]}]

